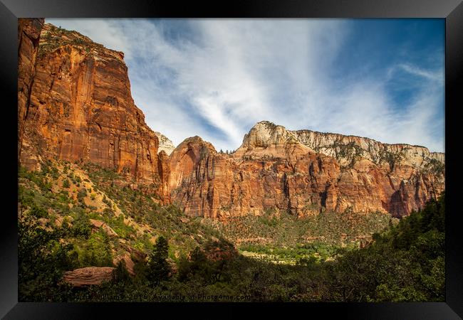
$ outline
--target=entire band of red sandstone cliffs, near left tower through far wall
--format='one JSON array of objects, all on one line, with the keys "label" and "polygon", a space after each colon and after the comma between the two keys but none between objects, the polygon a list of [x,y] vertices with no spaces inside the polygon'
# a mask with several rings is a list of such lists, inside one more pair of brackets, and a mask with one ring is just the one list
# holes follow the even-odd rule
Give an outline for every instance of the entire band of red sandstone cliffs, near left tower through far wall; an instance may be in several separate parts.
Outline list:
[{"label": "entire band of red sandstone cliffs, near left tower through far wall", "polygon": [[[19,19],[18,71],[21,165],[36,169],[55,157],[92,161],[155,183],[164,202],[172,199],[188,215],[402,216],[444,189],[444,154],[271,122],[256,124],[231,155],[199,137],[172,151],[134,104],[123,53],[43,19]],[[165,138],[162,151],[157,136]]]}]

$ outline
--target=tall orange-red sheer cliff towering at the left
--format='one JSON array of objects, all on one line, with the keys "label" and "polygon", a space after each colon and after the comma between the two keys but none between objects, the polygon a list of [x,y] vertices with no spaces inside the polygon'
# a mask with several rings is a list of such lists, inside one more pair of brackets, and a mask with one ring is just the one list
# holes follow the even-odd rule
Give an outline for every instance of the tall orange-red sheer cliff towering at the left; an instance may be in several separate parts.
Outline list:
[{"label": "tall orange-red sheer cliff towering at the left", "polygon": [[38,25],[38,50],[24,50],[36,58],[19,64],[20,74],[35,69],[28,111],[19,105],[21,164],[38,169],[40,158],[91,161],[159,185],[159,142],[132,100],[123,53],[75,31]]}]

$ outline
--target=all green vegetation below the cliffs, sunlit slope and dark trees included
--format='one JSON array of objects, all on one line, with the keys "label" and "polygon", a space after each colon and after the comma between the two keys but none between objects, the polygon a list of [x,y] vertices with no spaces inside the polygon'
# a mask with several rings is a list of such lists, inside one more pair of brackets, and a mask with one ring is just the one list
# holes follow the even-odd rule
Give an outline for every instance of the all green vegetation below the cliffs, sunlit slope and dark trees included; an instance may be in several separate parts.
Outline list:
[{"label": "all green vegetation below the cliffs, sunlit slope and dark trees included", "polygon": [[[19,301],[444,301],[444,212],[442,195],[398,223],[346,212],[224,225],[162,206],[115,171],[48,161],[19,170]],[[109,282],[63,282],[126,252],[134,275],[120,262]]]}]

